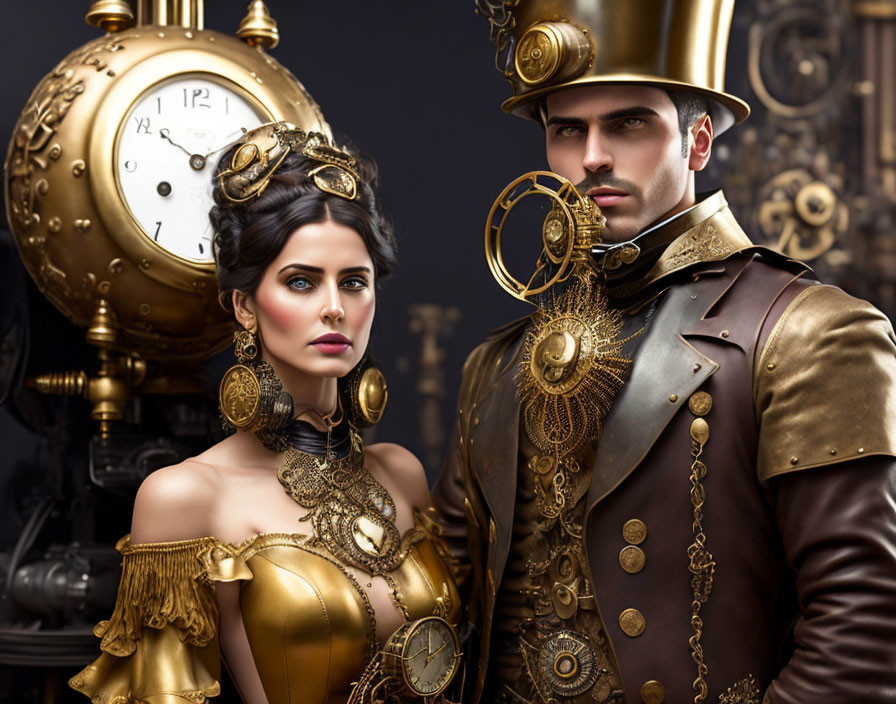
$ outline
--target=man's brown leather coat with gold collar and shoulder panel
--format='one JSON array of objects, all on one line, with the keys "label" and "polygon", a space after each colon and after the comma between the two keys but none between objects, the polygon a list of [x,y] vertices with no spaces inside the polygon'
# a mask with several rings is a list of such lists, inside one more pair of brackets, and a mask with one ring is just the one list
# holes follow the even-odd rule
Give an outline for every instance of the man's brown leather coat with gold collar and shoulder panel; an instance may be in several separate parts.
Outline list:
[{"label": "man's brown leather coat with gold collar and shoulder panel", "polygon": [[[694,701],[688,402],[703,391],[713,402],[703,527],[716,563],[700,614],[707,701],[751,701],[720,697],[752,676],[773,704],[896,702],[892,328],[804,268],[755,254],[720,195],[679,220],[669,251],[685,242],[690,261],[669,273],[668,258],[658,264],[668,287],[605,422],[587,497],[591,576],[626,699]],[[733,245],[706,247],[707,237]],[[473,702],[527,471],[514,383],[526,325],[496,331],[467,361],[456,447],[434,492],[469,569]],[[631,519],[647,528],[635,574],[619,561]],[[640,635],[624,632],[626,609],[643,615]]]}]

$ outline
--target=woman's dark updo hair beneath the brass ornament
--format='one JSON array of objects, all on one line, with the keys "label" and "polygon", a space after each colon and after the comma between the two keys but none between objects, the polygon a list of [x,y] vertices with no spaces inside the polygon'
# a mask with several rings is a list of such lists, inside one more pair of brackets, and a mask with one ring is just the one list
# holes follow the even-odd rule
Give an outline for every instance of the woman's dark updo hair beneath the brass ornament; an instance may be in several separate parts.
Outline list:
[{"label": "woman's dark updo hair beneath the brass ornament", "polygon": [[[230,167],[239,144],[218,161],[218,174]],[[357,159],[358,195],[346,200],[320,190],[308,172],[321,162],[300,152],[290,153],[274,172],[262,194],[245,203],[231,203],[214,188],[215,205],[209,213],[214,228],[213,251],[218,272],[219,300],[233,310],[233,291],[254,294],[268,265],[277,258],[289,236],[302,225],[332,220],[357,232],[373,260],[374,277],[383,281],[397,263],[392,226],[374,196],[376,167]]]}]

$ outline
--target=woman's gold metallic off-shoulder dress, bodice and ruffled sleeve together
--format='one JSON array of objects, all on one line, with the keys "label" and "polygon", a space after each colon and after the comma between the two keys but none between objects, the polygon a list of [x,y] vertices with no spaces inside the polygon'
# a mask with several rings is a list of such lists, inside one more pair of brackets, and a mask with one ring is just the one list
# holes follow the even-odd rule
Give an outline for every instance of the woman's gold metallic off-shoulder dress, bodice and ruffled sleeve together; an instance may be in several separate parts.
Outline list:
[{"label": "woman's gold metallic off-shoulder dress, bodice and ruffled sleeve together", "polygon": [[[405,535],[388,575],[406,619],[456,622],[459,597],[426,519]],[[240,610],[270,704],[344,704],[376,652],[367,595],[307,535],[265,534],[132,546],[118,603],[95,633],[103,654],[70,680],[94,704],[194,704],[220,691],[214,582],[242,581]],[[123,699],[118,699],[123,697]]]}]

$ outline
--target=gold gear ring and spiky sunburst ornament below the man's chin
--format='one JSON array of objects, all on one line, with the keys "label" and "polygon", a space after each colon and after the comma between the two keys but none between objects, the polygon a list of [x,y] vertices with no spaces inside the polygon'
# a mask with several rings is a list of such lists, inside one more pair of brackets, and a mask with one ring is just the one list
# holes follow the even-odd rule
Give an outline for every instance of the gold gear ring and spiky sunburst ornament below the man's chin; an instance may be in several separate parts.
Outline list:
[{"label": "gold gear ring and spiky sunburst ornament below the man's chin", "polygon": [[[510,212],[531,196],[547,197],[542,250],[525,283],[504,262],[502,241]],[[591,249],[606,220],[591,198],[557,174],[534,171],[498,196],[485,229],[489,268],[515,298],[536,303],[516,381],[526,435],[541,454],[532,458],[542,516],[561,516],[569,475],[580,470],[586,443],[596,440],[631,360],[623,354],[622,316],[612,310]],[[558,289],[563,288],[562,291]]]}]

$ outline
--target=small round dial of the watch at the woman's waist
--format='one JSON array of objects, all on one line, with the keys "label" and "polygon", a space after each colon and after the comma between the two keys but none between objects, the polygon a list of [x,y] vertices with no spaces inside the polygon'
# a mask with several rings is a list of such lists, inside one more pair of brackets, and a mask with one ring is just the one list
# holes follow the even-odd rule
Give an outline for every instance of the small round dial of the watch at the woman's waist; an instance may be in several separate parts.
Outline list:
[{"label": "small round dial of the watch at the woman's waist", "polygon": [[438,694],[454,677],[458,655],[457,638],[447,621],[433,616],[416,622],[402,658],[408,686],[420,696]]}]

